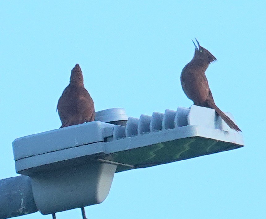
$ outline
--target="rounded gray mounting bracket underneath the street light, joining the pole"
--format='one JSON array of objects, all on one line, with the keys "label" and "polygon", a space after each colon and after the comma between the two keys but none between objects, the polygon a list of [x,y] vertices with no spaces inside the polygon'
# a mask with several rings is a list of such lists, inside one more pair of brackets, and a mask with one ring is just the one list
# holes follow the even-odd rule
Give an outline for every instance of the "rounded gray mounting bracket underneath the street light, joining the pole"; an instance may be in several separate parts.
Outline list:
[{"label": "rounded gray mounting bracket underneath the street light, joining the pole", "polygon": [[107,197],[116,165],[88,161],[31,177],[37,208],[42,214],[99,204]]}]

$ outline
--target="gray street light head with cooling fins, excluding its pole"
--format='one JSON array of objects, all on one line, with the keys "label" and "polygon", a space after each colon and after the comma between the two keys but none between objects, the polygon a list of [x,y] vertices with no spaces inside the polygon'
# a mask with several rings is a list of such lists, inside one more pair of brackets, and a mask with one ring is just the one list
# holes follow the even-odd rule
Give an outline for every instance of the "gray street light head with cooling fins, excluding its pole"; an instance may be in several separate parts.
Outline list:
[{"label": "gray street light head with cooling fins, excluding its pole", "polygon": [[17,173],[31,177],[38,210],[48,214],[101,203],[115,172],[243,145],[213,109],[192,105],[129,117],[126,127],[94,121],[18,138],[13,151]]}]

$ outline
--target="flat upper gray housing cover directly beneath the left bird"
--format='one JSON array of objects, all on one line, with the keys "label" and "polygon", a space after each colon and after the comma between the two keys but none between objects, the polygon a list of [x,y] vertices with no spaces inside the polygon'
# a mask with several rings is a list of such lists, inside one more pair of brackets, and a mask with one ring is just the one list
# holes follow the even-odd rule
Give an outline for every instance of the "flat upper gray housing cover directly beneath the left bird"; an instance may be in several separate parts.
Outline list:
[{"label": "flat upper gray housing cover directly beneath the left bird", "polygon": [[[17,138],[13,141],[14,159],[17,161],[52,151],[104,142],[104,138],[108,136],[108,130],[105,128],[113,126],[94,121]],[[101,149],[99,150],[101,152]]]}]

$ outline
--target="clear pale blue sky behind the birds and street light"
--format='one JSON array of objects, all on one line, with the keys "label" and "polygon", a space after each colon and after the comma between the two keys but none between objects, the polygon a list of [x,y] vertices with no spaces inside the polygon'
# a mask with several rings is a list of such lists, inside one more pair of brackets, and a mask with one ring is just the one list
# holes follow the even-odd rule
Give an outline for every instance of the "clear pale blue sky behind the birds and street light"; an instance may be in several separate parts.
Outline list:
[{"label": "clear pale blue sky behind the birds and street light", "polygon": [[[190,107],[179,78],[196,37],[217,58],[206,72],[210,88],[245,147],[116,173],[106,200],[86,207],[87,216],[264,218],[266,3],[178,2],[1,1],[0,178],[17,175],[15,138],[61,125],[56,105],[76,63],[96,111],[122,107],[139,118]],[[57,218],[82,217],[75,209]]]}]

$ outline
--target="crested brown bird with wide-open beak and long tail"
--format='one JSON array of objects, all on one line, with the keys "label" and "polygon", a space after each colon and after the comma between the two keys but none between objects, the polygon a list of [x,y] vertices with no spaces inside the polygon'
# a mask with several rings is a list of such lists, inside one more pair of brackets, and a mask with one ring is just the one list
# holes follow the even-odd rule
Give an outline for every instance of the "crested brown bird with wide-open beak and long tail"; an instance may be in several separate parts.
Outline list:
[{"label": "crested brown bird with wide-open beak and long tail", "polygon": [[[194,43],[193,40],[192,42]],[[208,50],[200,46],[198,41],[197,43],[199,48],[197,48],[194,43],[196,49],[193,59],[181,72],[180,79],[182,88],[187,97],[194,102],[194,105],[214,109],[231,129],[241,131],[238,126],[215,105],[205,71],[211,62],[216,61],[216,58]]]}]

